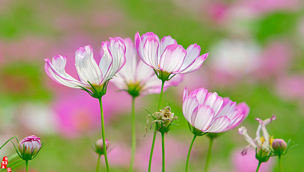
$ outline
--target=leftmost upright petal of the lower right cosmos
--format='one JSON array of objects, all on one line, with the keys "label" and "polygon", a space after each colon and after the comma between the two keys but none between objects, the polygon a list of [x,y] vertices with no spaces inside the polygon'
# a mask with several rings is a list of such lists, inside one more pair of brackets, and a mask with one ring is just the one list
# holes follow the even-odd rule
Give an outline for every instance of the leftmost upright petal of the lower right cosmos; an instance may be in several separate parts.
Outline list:
[{"label": "leftmost upright petal of the lower right cosmos", "polygon": [[[192,115],[194,109],[198,106],[198,101],[196,100],[195,97],[188,96],[184,99],[183,102],[183,114],[185,118],[187,119],[188,122],[192,123]],[[196,115],[196,114],[194,114]]]}]

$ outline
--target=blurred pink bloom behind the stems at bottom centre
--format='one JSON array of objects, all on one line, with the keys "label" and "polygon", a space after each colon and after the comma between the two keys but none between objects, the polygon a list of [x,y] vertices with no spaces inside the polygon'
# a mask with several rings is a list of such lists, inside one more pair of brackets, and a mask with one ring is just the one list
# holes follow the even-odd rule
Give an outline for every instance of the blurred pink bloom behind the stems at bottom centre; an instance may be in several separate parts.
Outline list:
[{"label": "blurred pink bloom behind the stems at bottom centre", "polygon": [[[137,154],[135,156],[135,167],[139,172],[147,171],[149,164],[149,155],[151,149],[152,137],[145,138],[143,143],[138,147]],[[179,140],[175,140],[169,136],[166,136],[165,141],[165,156],[166,156],[166,167],[168,172],[175,172],[174,167],[178,162],[184,162],[185,157],[187,156],[188,146]],[[162,171],[162,143],[161,138],[157,137],[154,153],[152,157],[152,172],[161,172]]]}]

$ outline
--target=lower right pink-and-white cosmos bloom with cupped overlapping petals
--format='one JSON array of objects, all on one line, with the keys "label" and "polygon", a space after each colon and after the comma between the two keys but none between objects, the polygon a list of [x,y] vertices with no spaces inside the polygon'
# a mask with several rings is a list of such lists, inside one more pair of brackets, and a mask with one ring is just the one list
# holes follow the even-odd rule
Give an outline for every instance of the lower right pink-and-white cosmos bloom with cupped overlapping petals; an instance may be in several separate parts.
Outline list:
[{"label": "lower right pink-and-white cosmos bloom with cupped overlapping petals", "polygon": [[220,133],[239,125],[249,114],[246,103],[236,104],[205,88],[183,94],[183,114],[187,121],[202,132]]}]

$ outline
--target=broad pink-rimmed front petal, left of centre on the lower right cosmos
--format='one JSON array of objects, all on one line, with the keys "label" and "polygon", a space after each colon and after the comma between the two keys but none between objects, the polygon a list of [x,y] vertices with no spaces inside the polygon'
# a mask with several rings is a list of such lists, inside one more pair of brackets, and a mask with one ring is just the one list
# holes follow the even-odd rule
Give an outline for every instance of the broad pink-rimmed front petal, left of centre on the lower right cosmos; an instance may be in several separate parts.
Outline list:
[{"label": "broad pink-rimmed front petal, left of centre on the lower right cosmos", "polygon": [[192,123],[194,123],[195,128],[205,131],[212,122],[213,117],[214,111],[210,106],[199,105],[197,115],[195,119],[192,119]]}]

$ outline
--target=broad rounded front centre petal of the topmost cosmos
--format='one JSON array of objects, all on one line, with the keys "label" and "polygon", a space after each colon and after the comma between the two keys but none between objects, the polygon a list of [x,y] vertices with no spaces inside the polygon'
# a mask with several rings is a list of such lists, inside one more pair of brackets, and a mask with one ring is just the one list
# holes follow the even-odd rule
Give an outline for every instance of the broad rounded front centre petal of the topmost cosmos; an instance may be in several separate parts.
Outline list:
[{"label": "broad rounded front centre petal of the topmost cosmos", "polygon": [[168,73],[178,71],[187,55],[186,50],[181,45],[168,45],[160,58],[160,69]]}]

